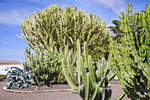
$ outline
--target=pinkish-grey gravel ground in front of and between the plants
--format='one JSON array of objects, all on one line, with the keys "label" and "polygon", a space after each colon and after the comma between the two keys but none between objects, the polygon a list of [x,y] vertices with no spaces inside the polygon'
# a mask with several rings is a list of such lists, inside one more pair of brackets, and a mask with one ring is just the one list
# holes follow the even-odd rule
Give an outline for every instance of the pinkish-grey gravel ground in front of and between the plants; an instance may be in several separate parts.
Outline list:
[{"label": "pinkish-grey gravel ground in front of and between the plants", "polygon": [[[48,93],[11,93],[3,90],[5,81],[0,81],[0,100],[82,100],[77,94],[71,91],[48,92]],[[114,100],[121,93],[119,84],[111,83],[112,98]],[[129,100],[125,97],[123,100]]]}]

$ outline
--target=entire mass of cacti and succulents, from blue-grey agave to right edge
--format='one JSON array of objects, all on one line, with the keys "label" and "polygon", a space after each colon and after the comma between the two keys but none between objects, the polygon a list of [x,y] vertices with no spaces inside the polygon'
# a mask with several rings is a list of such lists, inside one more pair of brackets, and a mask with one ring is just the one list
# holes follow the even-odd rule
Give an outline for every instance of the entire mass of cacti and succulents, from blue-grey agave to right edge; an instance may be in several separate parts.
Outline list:
[{"label": "entire mass of cacti and succulents, from blue-grey agave to right edge", "polygon": [[[25,72],[11,70],[7,89],[65,84],[82,100],[150,100],[150,3],[108,26],[77,7],[50,5],[25,18]],[[113,33],[113,35],[111,34]],[[113,82],[122,91],[113,97]],[[64,86],[65,86],[64,85]]]}]

